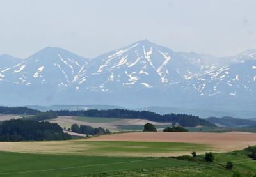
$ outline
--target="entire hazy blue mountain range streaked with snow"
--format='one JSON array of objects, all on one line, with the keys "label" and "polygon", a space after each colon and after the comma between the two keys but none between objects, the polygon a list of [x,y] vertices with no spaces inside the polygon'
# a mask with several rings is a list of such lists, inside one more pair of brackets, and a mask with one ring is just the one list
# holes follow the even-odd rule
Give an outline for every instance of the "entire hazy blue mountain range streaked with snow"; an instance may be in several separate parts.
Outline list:
[{"label": "entire hazy blue mountain range streaked with snow", "polygon": [[8,105],[253,111],[256,49],[218,58],[174,52],[142,40],[96,58],[58,47],[46,47],[25,59],[4,54],[0,56],[0,99]]}]

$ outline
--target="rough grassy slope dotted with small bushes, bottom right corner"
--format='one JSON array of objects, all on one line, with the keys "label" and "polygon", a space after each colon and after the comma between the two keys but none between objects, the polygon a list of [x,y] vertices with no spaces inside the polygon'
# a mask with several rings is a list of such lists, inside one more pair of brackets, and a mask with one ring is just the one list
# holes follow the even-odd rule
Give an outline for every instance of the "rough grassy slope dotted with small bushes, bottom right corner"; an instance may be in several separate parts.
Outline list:
[{"label": "rough grassy slope dotted with small bushes, bottom right corner", "polygon": [[[192,158],[193,159],[193,158]],[[94,176],[161,176],[161,177],[255,177],[256,160],[248,157],[248,151],[233,151],[230,153],[215,154],[214,162],[205,162],[204,155],[200,155],[192,160],[197,165],[180,166],[180,167],[157,167],[143,168],[133,171],[122,171],[107,174],[97,174]],[[185,162],[191,162],[184,160]],[[232,162],[233,169],[226,169],[225,164]],[[234,175],[236,174],[236,175]]]}]

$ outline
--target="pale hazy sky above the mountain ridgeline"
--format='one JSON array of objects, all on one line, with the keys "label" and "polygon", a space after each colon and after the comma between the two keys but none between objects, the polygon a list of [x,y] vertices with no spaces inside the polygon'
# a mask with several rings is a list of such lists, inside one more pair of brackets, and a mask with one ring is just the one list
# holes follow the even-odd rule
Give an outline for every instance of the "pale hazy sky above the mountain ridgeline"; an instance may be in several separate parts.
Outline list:
[{"label": "pale hazy sky above the mountain ridgeline", "polygon": [[46,46],[86,57],[148,39],[175,51],[228,56],[256,48],[252,0],[0,0],[0,54]]}]

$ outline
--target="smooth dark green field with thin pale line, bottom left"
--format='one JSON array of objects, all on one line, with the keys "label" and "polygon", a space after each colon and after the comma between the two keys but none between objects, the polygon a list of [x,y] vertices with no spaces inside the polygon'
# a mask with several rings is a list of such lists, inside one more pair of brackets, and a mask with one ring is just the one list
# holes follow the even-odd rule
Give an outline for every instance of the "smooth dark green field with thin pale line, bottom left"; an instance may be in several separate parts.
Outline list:
[{"label": "smooth dark green field with thin pale line, bottom left", "polygon": [[0,176],[85,176],[156,167],[198,165],[168,158],[0,153]]}]

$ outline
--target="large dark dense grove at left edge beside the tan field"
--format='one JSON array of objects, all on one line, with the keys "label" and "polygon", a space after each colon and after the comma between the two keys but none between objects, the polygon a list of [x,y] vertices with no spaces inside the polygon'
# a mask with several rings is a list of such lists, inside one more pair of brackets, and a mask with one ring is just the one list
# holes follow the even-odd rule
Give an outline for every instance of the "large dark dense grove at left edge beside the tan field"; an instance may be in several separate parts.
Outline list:
[{"label": "large dark dense grove at left edge beside the tan field", "polygon": [[12,119],[0,123],[0,141],[42,141],[71,139],[60,125],[49,122]]}]

